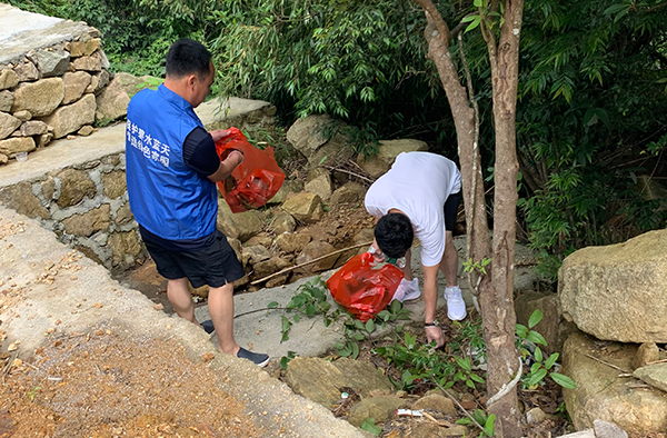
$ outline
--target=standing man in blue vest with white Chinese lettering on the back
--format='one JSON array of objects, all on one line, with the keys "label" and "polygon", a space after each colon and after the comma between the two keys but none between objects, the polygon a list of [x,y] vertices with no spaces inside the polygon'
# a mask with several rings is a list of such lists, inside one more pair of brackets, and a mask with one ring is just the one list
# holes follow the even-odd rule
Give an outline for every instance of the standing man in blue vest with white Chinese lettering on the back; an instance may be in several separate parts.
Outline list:
[{"label": "standing man in blue vest with white Chinese lettering on the back", "polygon": [[243,161],[232,151],[220,161],[216,141],[227,131],[207,132],[195,113],[210,92],[215,68],[199,42],[179,40],[167,53],[167,74],[158,90],[138,92],[128,107],[127,183],[130,208],[158,272],[168,280],[176,312],[193,323],[192,287],[209,286],[211,321],[203,328],[220,350],[263,367],[269,357],[239,347],[233,339],[233,282],[243,268],[216,228],[216,182]]}]

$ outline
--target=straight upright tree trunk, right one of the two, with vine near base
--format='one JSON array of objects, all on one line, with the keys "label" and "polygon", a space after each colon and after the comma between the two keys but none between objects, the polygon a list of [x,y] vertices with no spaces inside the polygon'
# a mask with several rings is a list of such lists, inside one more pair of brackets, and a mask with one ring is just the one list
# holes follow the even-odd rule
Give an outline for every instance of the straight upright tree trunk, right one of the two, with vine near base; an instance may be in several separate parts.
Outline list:
[{"label": "straight upright tree trunk, right one of the two, with vine near base", "polygon": [[[505,1],[505,23],[496,48],[492,34],[486,39],[491,61],[494,84],[494,122],[496,131],[495,205],[492,242],[492,287],[480,293],[484,338],[489,368],[487,390],[497,394],[518,370],[515,349],[516,315],[514,310],[514,259],[516,238],[517,148],[516,107],[519,70],[519,34],[524,11],[522,0]],[[499,424],[499,437],[520,437],[517,391],[511,390],[489,407]]]}]

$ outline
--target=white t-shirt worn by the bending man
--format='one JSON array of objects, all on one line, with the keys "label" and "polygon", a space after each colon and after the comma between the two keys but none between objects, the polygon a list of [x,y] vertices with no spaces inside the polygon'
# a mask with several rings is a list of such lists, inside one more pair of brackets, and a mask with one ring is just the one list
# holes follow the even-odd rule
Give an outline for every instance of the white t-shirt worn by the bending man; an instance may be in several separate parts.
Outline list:
[{"label": "white t-shirt worn by the bending man", "polygon": [[366,193],[366,210],[376,218],[390,209],[406,213],[421,243],[421,265],[436,266],[445,252],[445,201],[461,189],[456,163],[429,152],[402,152]]}]

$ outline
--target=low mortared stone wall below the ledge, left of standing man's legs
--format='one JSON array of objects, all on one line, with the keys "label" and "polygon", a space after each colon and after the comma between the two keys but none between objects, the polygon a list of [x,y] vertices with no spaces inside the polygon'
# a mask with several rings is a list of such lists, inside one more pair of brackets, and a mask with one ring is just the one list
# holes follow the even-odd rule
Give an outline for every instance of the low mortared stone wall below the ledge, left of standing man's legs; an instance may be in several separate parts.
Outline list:
[{"label": "low mortared stone wall below the ledge, left of standing man's legs", "polygon": [[125,270],[146,257],[128,203],[125,153],[2,188],[0,202],[38,219],[107,269]]}]

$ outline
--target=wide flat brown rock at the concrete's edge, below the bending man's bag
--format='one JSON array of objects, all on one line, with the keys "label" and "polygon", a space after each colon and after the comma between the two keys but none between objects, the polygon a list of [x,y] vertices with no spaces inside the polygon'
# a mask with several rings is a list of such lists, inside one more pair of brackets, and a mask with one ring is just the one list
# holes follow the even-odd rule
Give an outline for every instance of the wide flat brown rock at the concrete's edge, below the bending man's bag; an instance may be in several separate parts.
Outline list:
[{"label": "wide flat brown rock at the concrete's edge, below the bending man's bag", "polygon": [[368,397],[375,390],[394,389],[389,379],[371,364],[349,358],[329,361],[297,357],[289,361],[285,380],[296,394],[327,409],[340,399],[339,388],[342,387],[352,388],[361,397]]}]

